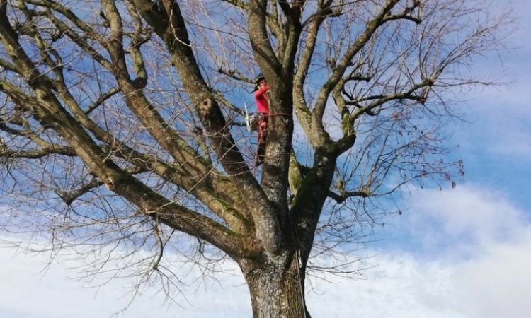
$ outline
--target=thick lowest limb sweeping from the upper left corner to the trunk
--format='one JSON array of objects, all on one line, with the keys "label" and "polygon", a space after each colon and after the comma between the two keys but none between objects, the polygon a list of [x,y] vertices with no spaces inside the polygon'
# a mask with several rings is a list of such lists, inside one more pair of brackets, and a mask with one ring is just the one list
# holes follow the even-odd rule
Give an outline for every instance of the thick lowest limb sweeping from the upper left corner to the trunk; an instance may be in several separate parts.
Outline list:
[{"label": "thick lowest limb sweeping from the upper left corner to the trunk", "polygon": [[[101,179],[105,187],[135,204],[144,213],[155,213],[160,216],[162,222],[190,235],[202,237],[233,257],[255,252],[253,249],[247,249],[246,247],[249,245],[244,245],[241,242],[246,240],[241,235],[236,235],[232,230],[206,216],[201,216],[188,208],[172,203],[113,163],[93,142],[91,136],[81,128],[81,125],[64,110],[56,96],[49,93],[52,91],[50,80],[38,73],[37,68],[21,49],[16,35],[13,36],[13,31],[8,24],[5,5],[5,2],[0,2],[1,41],[21,71],[25,76],[28,76],[26,81],[30,88],[35,90],[38,100],[36,118],[45,126],[53,126],[57,133],[68,141],[76,155],[89,170]],[[112,21],[113,17],[109,18],[111,23],[116,23],[116,21]],[[111,37],[116,40],[116,33]],[[61,123],[61,125],[57,123]]]}]

